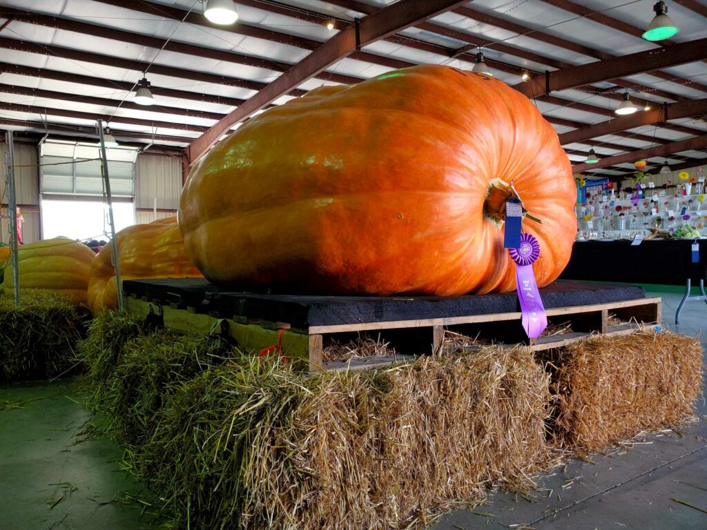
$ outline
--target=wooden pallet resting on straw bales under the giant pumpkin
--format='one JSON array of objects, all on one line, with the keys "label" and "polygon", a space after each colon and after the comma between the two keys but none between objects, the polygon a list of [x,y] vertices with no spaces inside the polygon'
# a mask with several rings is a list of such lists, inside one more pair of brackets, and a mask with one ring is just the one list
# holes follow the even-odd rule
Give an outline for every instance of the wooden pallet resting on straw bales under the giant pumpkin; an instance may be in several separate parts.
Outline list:
[{"label": "wooden pallet resting on straw bales under the giant pumpkin", "polygon": [[[213,314],[198,314],[188,308],[178,309],[174,305],[173,307],[160,305],[156,301],[136,297],[127,297],[125,304],[129,312],[145,318],[148,316],[158,318],[165,327],[170,329],[192,334],[223,334],[234,338],[242,348],[255,353],[274,346],[278,341],[279,331],[284,330],[281,335],[281,348],[284,355],[308,361],[312,371],[356,370],[407,363],[416,355],[432,353],[442,348],[445,329],[508,346],[521,343],[534,351],[541,351],[567,346],[592,333],[608,336],[631,334],[637,329],[660,325],[662,319],[660,298],[555,307],[547,310],[549,322],[556,324],[568,322],[572,332],[528,340],[520,326],[520,312],[334,324],[296,329],[287,322],[249,320],[245,317],[219,318]],[[628,323],[609,326],[609,314]],[[380,335],[383,340],[395,347],[396,351],[404,355],[387,358],[356,358],[346,363],[322,361],[327,341],[332,338],[345,340],[357,334]]]}]

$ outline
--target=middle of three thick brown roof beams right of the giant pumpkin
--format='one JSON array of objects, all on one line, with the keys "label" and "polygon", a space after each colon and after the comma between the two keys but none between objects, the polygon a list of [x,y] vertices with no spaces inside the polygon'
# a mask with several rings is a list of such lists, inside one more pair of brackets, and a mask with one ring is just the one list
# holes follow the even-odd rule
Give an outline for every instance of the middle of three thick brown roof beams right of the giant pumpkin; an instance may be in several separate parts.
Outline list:
[{"label": "middle of three thick brown roof beams right of the giant pumpkin", "polygon": [[644,125],[666,122],[667,119],[701,116],[702,114],[707,114],[707,98],[673,103],[672,105],[667,105],[667,112],[665,109],[666,107],[659,107],[653,110],[645,110],[629,116],[621,116],[609,119],[606,122],[586,126],[576,131],[561,134],[559,136],[560,142],[563,144],[574,143],[597,138],[597,136],[604,136],[605,134],[617,134],[617,132],[636,129],[636,127]]}]

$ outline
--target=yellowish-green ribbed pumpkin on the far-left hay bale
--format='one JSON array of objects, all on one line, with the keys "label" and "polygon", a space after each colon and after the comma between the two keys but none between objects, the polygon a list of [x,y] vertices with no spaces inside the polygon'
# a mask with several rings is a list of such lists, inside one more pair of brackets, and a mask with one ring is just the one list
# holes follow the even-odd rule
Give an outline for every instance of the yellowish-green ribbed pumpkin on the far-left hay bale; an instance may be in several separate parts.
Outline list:
[{"label": "yellowish-green ribbed pumpkin on the far-left hay bale", "polygon": [[[18,248],[20,292],[40,291],[86,305],[88,271],[95,259],[93,250],[76,240],[54,237]],[[5,268],[4,294],[14,290],[12,261]]]}]

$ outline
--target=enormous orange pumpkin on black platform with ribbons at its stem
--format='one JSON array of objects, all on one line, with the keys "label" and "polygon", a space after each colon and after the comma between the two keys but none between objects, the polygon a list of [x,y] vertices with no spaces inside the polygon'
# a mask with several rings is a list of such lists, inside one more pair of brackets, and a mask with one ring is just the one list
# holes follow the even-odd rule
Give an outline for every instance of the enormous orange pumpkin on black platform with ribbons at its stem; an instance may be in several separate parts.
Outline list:
[{"label": "enormous orange pumpkin on black platform with ribbons at its stem", "polygon": [[537,281],[575,238],[571,165],[532,102],[501,81],[414,66],[322,87],[250,119],[194,166],[189,253],[214,283],[310,293],[508,291],[510,183],[539,240]]}]

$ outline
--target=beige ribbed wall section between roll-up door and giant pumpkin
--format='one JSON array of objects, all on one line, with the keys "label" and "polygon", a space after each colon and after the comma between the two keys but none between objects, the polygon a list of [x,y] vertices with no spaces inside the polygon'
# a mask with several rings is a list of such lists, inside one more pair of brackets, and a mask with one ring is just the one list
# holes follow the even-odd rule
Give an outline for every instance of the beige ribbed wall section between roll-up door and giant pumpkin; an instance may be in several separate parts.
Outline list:
[{"label": "beige ribbed wall section between roll-up door and giant pumpkin", "polygon": [[[182,161],[168,155],[138,155],[136,208],[176,210],[182,192]],[[139,221],[141,222],[141,221]]]}]

